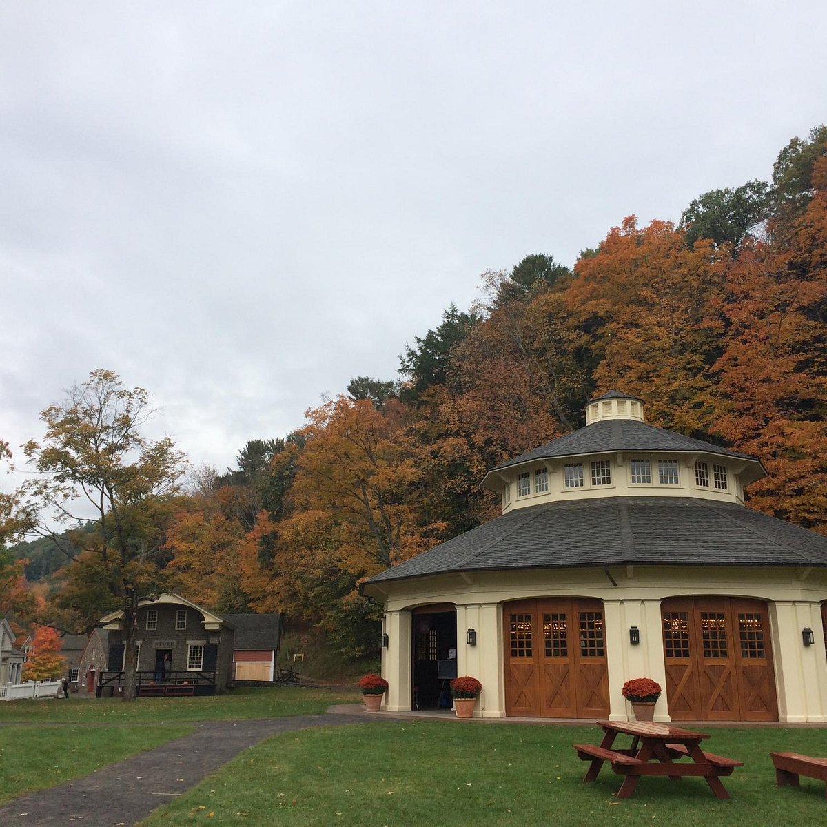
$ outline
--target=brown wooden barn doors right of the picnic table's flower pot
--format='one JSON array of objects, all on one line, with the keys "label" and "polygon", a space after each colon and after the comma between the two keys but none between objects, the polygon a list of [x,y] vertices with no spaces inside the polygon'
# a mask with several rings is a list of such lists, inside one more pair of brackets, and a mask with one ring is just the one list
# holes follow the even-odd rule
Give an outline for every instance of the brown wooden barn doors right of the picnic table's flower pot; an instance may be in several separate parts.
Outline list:
[{"label": "brown wooden barn doors right of the picnic table's flower pot", "polygon": [[664,600],[662,629],[673,720],[777,720],[765,604]]}]

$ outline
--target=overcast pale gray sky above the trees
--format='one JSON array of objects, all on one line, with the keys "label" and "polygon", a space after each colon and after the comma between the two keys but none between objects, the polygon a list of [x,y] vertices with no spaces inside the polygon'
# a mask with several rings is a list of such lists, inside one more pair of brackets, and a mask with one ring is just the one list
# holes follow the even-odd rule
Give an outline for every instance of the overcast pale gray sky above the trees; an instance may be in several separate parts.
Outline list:
[{"label": "overcast pale gray sky above the trees", "polygon": [[[222,469],[827,119],[823,0],[0,4],[0,437],[90,370]],[[20,452],[18,452],[19,457]],[[4,485],[0,480],[0,485]]]}]

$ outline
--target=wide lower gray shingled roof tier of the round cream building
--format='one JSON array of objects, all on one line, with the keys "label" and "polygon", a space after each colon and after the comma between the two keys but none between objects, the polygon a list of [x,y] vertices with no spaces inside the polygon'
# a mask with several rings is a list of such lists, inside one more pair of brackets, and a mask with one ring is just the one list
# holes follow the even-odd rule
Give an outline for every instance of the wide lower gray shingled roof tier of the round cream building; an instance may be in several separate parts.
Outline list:
[{"label": "wide lower gray shingled roof tier of the round cream building", "polygon": [[514,509],[367,582],[633,564],[827,567],[827,537],[717,500],[600,497]]}]

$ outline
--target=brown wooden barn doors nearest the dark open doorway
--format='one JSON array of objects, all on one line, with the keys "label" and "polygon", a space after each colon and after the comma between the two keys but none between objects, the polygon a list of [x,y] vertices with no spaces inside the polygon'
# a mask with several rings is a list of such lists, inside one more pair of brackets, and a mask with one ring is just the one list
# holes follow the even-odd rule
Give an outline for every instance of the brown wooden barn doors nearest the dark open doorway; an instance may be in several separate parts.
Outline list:
[{"label": "brown wooden barn doors nearest the dark open doorway", "polygon": [[505,711],[540,718],[609,714],[603,605],[520,600],[504,606]]}]

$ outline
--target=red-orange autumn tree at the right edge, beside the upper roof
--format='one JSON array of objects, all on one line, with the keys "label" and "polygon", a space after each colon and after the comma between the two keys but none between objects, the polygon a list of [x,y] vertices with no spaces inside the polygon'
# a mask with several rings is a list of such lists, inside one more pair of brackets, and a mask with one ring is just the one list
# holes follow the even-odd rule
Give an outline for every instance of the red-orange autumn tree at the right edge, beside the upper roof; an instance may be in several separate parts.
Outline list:
[{"label": "red-orange autumn tree at the right edge, beside the upper roof", "polygon": [[827,533],[827,156],[783,242],[755,244],[727,274],[719,433],[769,476],[750,504]]}]

